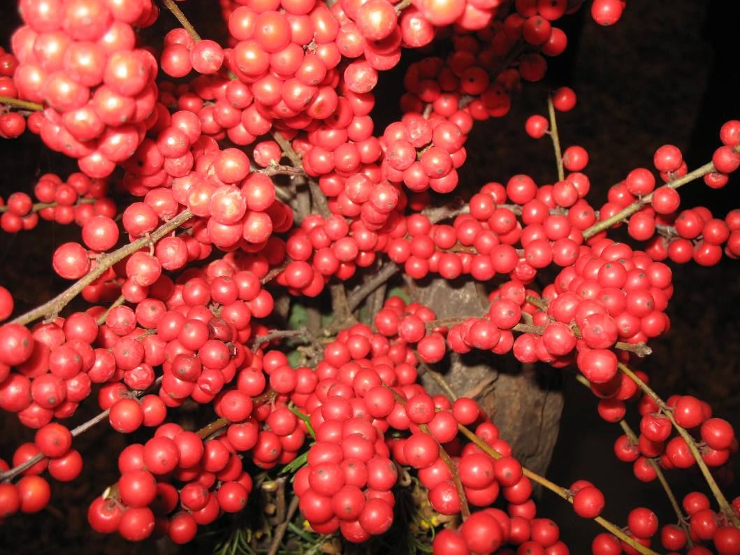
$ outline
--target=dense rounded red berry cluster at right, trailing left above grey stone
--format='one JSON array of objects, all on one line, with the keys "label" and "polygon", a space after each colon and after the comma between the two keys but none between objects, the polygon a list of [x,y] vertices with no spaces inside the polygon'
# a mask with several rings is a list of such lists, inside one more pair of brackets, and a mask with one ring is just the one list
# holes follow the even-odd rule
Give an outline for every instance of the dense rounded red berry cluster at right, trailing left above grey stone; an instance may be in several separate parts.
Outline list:
[{"label": "dense rounded red berry cluster at right, trailing left above grey stone", "polygon": [[[558,367],[577,363],[599,388],[611,389],[614,380],[619,382],[618,359],[610,350],[616,342],[646,343],[668,329],[663,311],[673,294],[671,272],[665,264],[609,239],[576,247],[578,254],[575,263],[543,289],[539,302],[547,304],[545,309],[536,306],[536,300],[528,301],[528,295],[539,298],[536,292],[525,289],[519,280],[508,281],[491,292],[486,317],[470,318],[449,329],[449,348],[461,353],[485,349],[496,354],[513,349],[523,363],[540,360]],[[398,334],[417,343],[419,355],[427,363],[442,360],[446,347],[440,332],[446,329],[426,329],[425,323],[434,320],[434,314],[428,309],[419,315],[403,314],[403,301],[397,306],[398,301],[386,302],[375,317],[377,329],[389,337]],[[416,312],[416,307],[411,311]],[[522,312],[529,314],[536,328],[523,325]],[[525,333],[515,340],[512,330]]]}]

